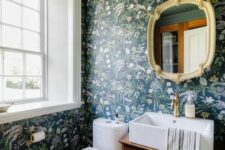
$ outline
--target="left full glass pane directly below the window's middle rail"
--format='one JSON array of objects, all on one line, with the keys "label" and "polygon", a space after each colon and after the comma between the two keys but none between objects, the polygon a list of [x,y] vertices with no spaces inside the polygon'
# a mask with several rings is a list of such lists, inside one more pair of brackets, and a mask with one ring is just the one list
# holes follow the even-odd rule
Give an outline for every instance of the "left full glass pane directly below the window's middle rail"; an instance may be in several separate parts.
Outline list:
[{"label": "left full glass pane directly below the window's middle rail", "polygon": [[4,53],[4,74],[22,75],[23,73],[23,55],[20,53]]}]

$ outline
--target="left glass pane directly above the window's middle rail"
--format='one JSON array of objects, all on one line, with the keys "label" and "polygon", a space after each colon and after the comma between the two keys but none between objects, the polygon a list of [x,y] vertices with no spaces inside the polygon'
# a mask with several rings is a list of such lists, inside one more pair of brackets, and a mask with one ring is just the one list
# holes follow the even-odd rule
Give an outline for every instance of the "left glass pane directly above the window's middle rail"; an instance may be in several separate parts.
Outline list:
[{"label": "left glass pane directly above the window's middle rail", "polygon": [[21,30],[2,25],[2,45],[11,48],[21,48]]}]

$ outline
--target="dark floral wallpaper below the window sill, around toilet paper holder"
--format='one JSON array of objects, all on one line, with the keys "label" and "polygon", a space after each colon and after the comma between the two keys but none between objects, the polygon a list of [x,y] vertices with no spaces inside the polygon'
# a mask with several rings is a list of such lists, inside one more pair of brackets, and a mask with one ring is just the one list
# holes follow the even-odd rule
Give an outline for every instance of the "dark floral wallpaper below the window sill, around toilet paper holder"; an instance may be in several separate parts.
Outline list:
[{"label": "dark floral wallpaper below the window sill, around toilet paper holder", "polygon": [[[58,112],[0,125],[0,150],[80,150],[92,145],[90,107]],[[45,131],[46,139],[29,145],[30,135]]]}]

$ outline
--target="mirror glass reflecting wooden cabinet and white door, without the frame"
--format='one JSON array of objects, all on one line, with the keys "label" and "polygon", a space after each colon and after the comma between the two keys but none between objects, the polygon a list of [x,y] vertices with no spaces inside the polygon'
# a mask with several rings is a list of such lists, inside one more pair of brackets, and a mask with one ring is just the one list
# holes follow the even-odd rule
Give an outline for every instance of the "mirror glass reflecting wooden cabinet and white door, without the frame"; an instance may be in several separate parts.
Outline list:
[{"label": "mirror glass reflecting wooden cabinet and white door, without the frame", "polygon": [[182,4],[164,11],[154,36],[155,61],[165,72],[193,72],[205,60],[207,21],[197,5]]}]

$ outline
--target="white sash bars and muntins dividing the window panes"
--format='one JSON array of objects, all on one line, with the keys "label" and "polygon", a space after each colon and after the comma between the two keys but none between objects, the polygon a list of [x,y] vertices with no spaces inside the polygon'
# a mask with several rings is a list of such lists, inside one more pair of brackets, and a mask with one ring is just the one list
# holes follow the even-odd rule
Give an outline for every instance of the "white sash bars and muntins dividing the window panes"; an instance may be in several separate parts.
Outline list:
[{"label": "white sash bars and muntins dividing the window panes", "polygon": [[[7,23],[4,23],[2,22],[2,16],[1,16],[1,13],[0,12],[0,30],[2,30],[2,25],[5,25],[5,26],[9,26],[9,27],[14,27],[14,28],[17,28],[19,30],[21,30],[21,32],[23,31],[30,31],[30,32],[33,32],[33,33],[36,33],[36,34],[39,34],[40,36],[40,48],[39,48],[39,51],[34,51],[34,50],[29,50],[29,49],[24,49],[23,48],[23,35],[22,35],[22,38],[21,38],[21,48],[11,48],[11,47],[6,47],[6,46],[2,46],[2,35],[0,35],[0,50],[4,52],[6,51],[10,51],[10,52],[15,52],[15,53],[22,53],[23,55],[23,65],[26,65],[26,60],[25,60],[25,55],[27,54],[32,54],[32,55],[39,55],[41,57],[41,67],[42,67],[42,72],[41,72],[41,75],[26,75],[26,72],[23,71],[23,74],[22,75],[5,75],[4,72],[2,72],[3,74],[0,75],[0,77],[2,79],[6,78],[6,77],[21,77],[22,78],[22,82],[23,82],[23,93],[26,92],[26,88],[25,88],[25,84],[26,84],[26,79],[29,78],[29,77],[37,77],[37,78],[40,78],[41,79],[41,85],[40,85],[40,90],[41,90],[41,97],[35,97],[35,98],[25,98],[25,94],[23,94],[23,98],[22,99],[15,99],[15,100],[12,100],[12,102],[28,102],[28,101],[36,101],[36,100],[44,100],[45,97],[46,97],[46,86],[47,86],[47,82],[46,82],[46,76],[47,76],[47,66],[46,66],[46,50],[47,50],[47,11],[46,11],[46,0],[40,0],[40,10],[36,10],[34,8],[31,8],[29,6],[25,6],[23,4],[20,4],[20,3],[17,3],[15,1],[12,1],[12,0],[7,0],[11,3],[14,3],[14,4],[17,4],[19,6],[22,7],[22,10],[23,8],[28,8],[28,9],[31,9],[32,11],[35,11],[35,12],[38,12],[40,13],[40,32],[39,31],[35,31],[35,30],[32,30],[32,29],[27,29],[27,28],[24,28],[24,27],[20,27],[20,26],[16,26],[16,25],[11,25],[11,24],[7,24]],[[0,3],[2,2],[2,0],[0,0]],[[2,5],[0,5],[1,7]],[[22,18],[23,18],[23,14],[22,15]],[[21,20],[22,21],[22,20]],[[3,70],[4,70],[4,58],[2,59],[3,63]],[[0,63],[1,65],[1,63]],[[23,66],[24,70],[26,68],[26,66]],[[2,70],[2,71],[3,71]],[[4,91],[4,80],[3,80],[3,83],[1,85],[3,87],[3,91]],[[2,93],[3,96],[5,95],[5,93],[3,92]],[[0,99],[0,103],[1,102],[4,102],[4,100],[1,100]],[[7,100],[7,102],[10,102],[9,100]]]}]

